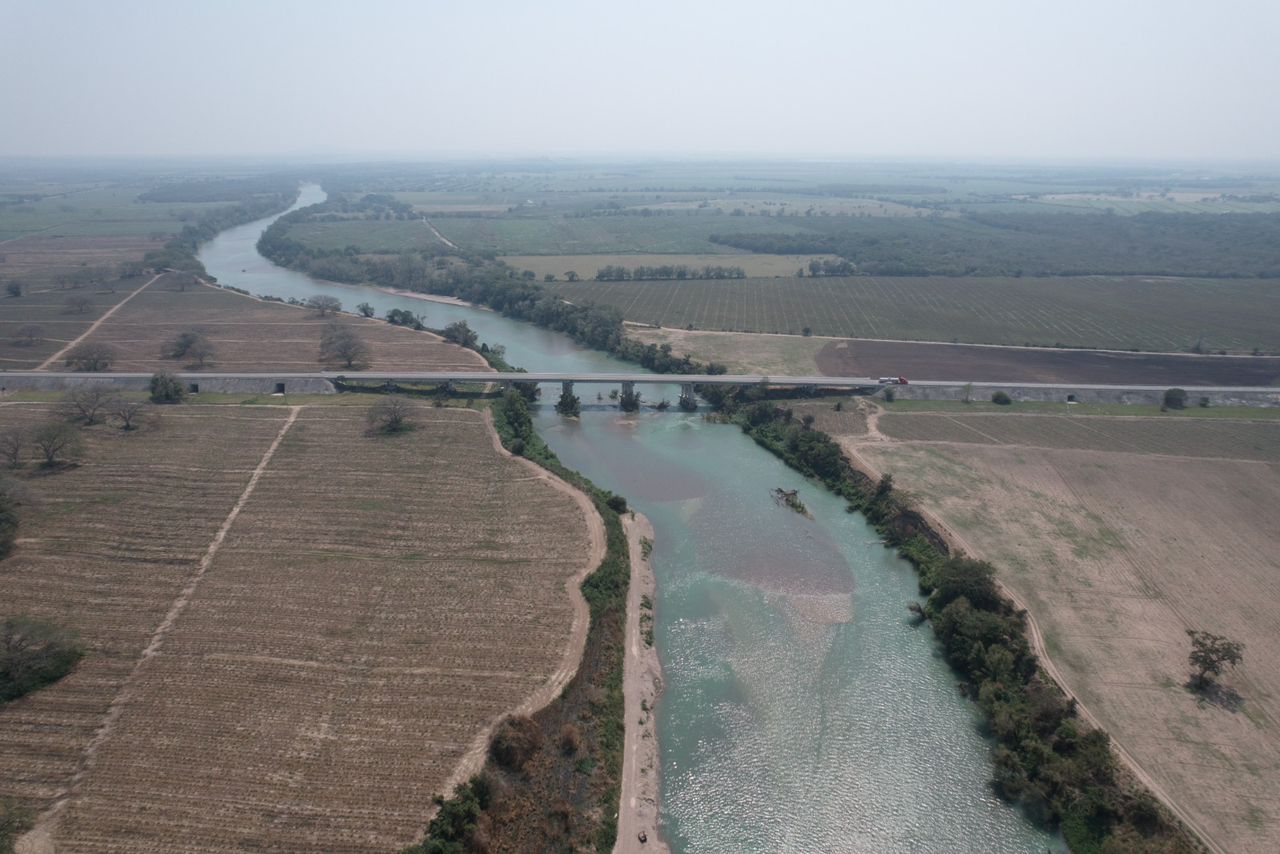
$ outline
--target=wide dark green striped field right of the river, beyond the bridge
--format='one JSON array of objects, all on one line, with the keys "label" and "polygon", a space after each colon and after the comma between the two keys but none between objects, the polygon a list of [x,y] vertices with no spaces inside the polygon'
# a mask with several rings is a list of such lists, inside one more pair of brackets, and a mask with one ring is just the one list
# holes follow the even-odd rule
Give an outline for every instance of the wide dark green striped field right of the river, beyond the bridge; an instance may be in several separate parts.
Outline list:
[{"label": "wide dark green striped field right of the river, beyond the bridge", "polygon": [[730,332],[1116,350],[1280,352],[1280,283],[1149,277],[858,277],[548,287],[627,320]]}]

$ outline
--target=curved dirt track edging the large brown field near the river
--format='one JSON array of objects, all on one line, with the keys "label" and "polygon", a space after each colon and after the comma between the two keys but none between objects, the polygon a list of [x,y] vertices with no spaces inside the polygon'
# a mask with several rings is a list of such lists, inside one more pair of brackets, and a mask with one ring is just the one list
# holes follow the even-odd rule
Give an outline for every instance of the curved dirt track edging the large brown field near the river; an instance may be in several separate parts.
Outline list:
[{"label": "curved dirt track edging the large brown field near the river", "polygon": [[[585,581],[591,572],[595,572],[600,563],[604,562],[607,548],[604,520],[600,519],[600,513],[596,512],[591,498],[577,487],[561,479],[554,472],[543,469],[532,460],[518,457],[507,451],[507,448],[502,446],[502,438],[498,435],[498,430],[493,424],[493,412],[490,410],[485,410],[481,419],[484,421],[484,429],[489,433],[489,440],[493,443],[494,451],[500,457],[515,460],[520,465],[526,466],[532,470],[540,480],[547,481],[549,487],[573,499],[584,516],[584,521],[586,522],[589,549],[582,568],[564,580],[564,592],[568,594],[570,602],[573,607],[573,622],[570,629],[568,644],[564,647],[564,654],[561,657],[559,667],[550,675],[547,682],[525,698],[524,703],[499,714],[476,735],[466,753],[462,754],[462,758],[454,767],[453,773],[451,773],[444,781],[444,790],[440,794],[445,796],[452,795],[453,790],[457,789],[458,785],[480,773],[480,769],[484,767],[485,758],[489,755],[489,740],[493,737],[493,731],[497,729],[498,722],[502,718],[508,714],[534,714],[559,697],[561,691],[564,690],[564,686],[568,685],[575,676],[577,676],[577,668],[582,663],[582,653],[586,650],[586,634],[591,627],[591,609],[588,607],[586,598],[582,595],[581,585],[582,581]],[[434,814],[435,809],[433,808],[430,816]],[[430,816],[428,816],[428,818],[430,818]]]}]

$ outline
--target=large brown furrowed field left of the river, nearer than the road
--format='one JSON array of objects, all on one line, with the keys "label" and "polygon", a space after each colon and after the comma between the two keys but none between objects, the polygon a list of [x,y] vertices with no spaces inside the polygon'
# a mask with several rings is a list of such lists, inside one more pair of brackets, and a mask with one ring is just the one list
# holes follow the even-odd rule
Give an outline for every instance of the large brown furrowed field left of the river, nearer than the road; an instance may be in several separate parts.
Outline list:
[{"label": "large brown furrowed field left of the river, nearer than the road", "polygon": [[588,520],[480,412],[415,420],[371,438],[362,407],[170,407],[26,470],[6,606],[90,650],[0,708],[0,796],[61,803],[40,839],[396,850],[484,731],[558,684]]}]

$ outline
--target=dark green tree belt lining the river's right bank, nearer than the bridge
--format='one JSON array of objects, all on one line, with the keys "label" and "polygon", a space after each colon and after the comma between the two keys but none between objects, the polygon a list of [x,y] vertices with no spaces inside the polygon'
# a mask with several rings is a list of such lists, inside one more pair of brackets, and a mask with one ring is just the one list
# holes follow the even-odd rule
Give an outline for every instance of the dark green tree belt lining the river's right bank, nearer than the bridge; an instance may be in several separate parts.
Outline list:
[{"label": "dark green tree belt lining the river's right bank, nearer than the bridge", "polygon": [[992,786],[1037,823],[1057,828],[1073,851],[1196,851],[1199,844],[1149,793],[1132,781],[1102,730],[1088,729],[1075,702],[1039,667],[1015,608],[984,561],[948,553],[942,536],[892,476],[874,481],[852,467],[824,433],[758,401],[724,407],[756,444],[820,480],[864,513],[919,572],[929,595],[923,616],[961,688],[986,714],[997,741]]}]

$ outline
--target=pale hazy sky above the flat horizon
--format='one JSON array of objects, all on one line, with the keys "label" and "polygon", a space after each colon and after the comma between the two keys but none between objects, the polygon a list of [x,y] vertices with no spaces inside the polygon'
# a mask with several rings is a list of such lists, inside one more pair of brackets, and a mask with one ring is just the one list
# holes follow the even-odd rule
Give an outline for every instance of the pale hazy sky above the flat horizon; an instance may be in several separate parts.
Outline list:
[{"label": "pale hazy sky above the flat horizon", "polygon": [[0,155],[1280,160],[1280,0],[0,0]]}]

